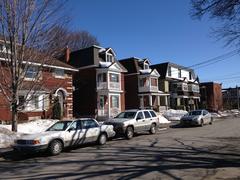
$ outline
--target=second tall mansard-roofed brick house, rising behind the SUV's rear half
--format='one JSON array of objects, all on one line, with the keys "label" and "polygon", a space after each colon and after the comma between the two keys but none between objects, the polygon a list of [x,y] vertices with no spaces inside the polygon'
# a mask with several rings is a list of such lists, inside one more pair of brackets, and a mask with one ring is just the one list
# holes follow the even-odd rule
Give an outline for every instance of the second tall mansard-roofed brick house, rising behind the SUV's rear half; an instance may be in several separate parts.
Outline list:
[{"label": "second tall mansard-roofed brick house, rising behind the SUV's rear half", "polygon": [[169,94],[159,90],[160,75],[156,69],[150,68],[150,61],[131,57],[119,62],[128,71],[125,73],[126,108],[166,110]]}]

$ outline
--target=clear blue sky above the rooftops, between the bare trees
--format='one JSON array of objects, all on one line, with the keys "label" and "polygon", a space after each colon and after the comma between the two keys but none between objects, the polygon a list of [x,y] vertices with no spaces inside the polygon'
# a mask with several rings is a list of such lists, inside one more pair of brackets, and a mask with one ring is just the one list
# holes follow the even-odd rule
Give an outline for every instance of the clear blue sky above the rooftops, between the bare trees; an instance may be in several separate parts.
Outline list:
[{"label": "clear blue sky above the rooftops, between the bare trees", "polygon": [[[210,37],[217,23],[190,17],[190,0],[70,0],[69,6],[71,28],[89,31],[101,46],[112,47],[118,59],[135,56],[152,64],[191,66],[236,49]],[[236,55],[194,70],[201,81],[235,87],[240,85],[239,67]]]}]

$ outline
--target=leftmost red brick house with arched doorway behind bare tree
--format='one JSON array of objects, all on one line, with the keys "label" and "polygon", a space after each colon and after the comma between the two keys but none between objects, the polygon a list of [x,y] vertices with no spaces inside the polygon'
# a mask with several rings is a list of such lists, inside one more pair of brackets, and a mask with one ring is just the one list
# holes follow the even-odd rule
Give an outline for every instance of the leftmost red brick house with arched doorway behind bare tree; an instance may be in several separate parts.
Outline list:
[{"label": "leftmost red brick house with arched doorway behind bare tree", "polygon": [[[0,63],[1,72],[6,76],[0,76],[0,82],[6,83],[11,79],[7,78],[9,72],[6,67],[4,53],[6,48],[0,45]],[[45,55],[44,55],[45,56]],[[24,104],[19,111],[18,120],[32,120],[37,118],[51,118],[52,107],[55,97],[58,97],[63,118],[72,117],[72,74],[77,69],[63,63],[57,59],[48,57],[48,60],[42,64],[43,56],[32,59],[29,68],[25,71],[22,86],[19,89],[19,104]],[[39,68],[41,67],[41,70]],[[39,72],[39,73],[38,73]],[[10,77],[10,74],[9,74]],[[36,80],[37,77],[37,80]],[[5,78],[5,79],[4,79]],[[29,90],[31,90],[29,92]],[[30,98],[31,99],[28,99]],[[24,103],[24,99],[27,102]],[[0,91],[0,121],[11,120],[11,110],[9,102],[6,100],[3,92]]]}]

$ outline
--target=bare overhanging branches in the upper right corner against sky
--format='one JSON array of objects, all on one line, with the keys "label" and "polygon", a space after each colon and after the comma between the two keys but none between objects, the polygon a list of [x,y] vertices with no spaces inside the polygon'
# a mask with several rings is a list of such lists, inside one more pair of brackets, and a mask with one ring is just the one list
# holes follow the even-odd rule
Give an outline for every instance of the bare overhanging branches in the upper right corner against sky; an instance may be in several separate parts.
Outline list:
[{"label": "bare overhanging branches in the upper right corner against sky", "polygon": [[191,0],[193,18],[208,15],[220,24],[213,36],[224,40],[225,45],[240,46],[240,0]]}]

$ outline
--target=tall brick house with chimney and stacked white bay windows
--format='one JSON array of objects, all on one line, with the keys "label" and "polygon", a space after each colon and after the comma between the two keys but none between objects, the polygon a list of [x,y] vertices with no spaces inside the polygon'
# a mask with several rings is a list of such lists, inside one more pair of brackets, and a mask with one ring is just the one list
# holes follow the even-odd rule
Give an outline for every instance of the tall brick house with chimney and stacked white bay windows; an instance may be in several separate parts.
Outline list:
[{"label": "tall brick house with chimney and stacked white bay windows", "polygon": [[71,53],[67,49],[65,61],[79,70],[73,78],[75,117],[104,120],[125,110],[126,69],[112,48],[94,45]]}]

